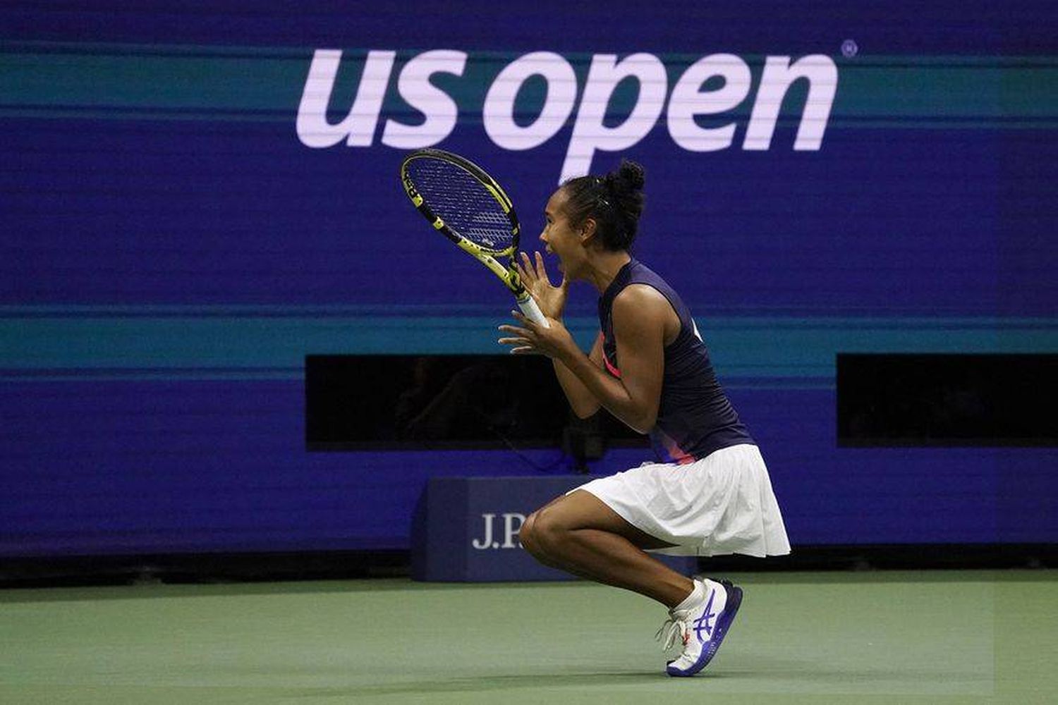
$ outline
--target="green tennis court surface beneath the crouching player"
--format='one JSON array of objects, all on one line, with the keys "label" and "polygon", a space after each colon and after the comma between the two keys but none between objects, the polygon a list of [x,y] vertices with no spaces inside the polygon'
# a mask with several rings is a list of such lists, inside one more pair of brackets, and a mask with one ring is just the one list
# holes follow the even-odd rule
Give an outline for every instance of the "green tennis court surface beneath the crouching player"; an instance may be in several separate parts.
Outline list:
[{"label": "green tennis court surface beneath the crouching player", "polygon": [[694,679],[660,607],[586,582],[5,590],[0,703],[1058,702],[1058,571],[726,577]]}]

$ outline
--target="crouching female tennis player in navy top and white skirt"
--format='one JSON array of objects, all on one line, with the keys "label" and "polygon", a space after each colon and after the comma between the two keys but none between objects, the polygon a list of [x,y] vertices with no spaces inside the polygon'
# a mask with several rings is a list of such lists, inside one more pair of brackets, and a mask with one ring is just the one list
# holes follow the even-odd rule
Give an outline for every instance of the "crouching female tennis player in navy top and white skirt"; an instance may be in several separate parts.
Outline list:
[{"label": "crouching female tennis player in navy top and white skirt", "polygon": [[[646,552],[713,556],[789,553],[767,467],[716,375],[691,312],[630,254],[643,208],[643,169],[623,162],[579,177],[548,200],[541,242],[558,258],[523,254],[526,286],[548,317],[542,328],[513,312],[499,342],[551,358],[580,418],[600,407],[649,434],[657,462],[588,482],[530,515],[523,546],[546,565],[635,591],[669,608],[658,630],[681,653],[670,675],[693,675],[716,653],[742,601],[725,580],[689,578]],[[585,355],[562,324],[569,283],[599,292],[601,331]]]}]

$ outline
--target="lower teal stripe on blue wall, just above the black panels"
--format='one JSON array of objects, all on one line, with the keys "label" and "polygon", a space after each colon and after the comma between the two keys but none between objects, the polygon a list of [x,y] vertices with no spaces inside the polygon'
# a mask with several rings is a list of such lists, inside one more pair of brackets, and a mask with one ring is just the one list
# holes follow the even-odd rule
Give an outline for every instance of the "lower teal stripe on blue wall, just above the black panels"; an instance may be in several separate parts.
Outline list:
[{"label": "lower teal stripe on blue wall, just above the black panels", "polygon": [[[12,379],[298,378],[307,354],[489,354],[491,316],[8,315],[0,374]],[[1058,318],[699,318],[717,372],[754,386],[833,385],[839,352],[1058,352]],[[567,326],[582,348],[598,324]]]}]

